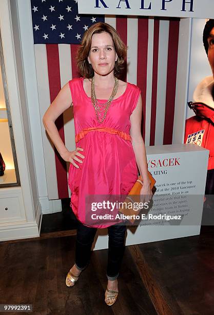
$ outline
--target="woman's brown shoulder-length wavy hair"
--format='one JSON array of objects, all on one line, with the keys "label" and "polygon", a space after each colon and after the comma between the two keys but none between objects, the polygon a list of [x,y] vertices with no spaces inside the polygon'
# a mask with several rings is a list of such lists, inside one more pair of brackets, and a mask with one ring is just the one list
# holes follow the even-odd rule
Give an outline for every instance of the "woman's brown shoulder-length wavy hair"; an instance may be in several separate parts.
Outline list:
[{"label": "woman's brown shoulder-length wavy hair", "polygon": [[94,76],[94,71],[88,62],[88,55],[91,49],[91,41],[93,34],[107,32],[112,37],[114,48],[116,54],[118,55],[118,60],[115,61],[114,66],[114,76],[120,78],[123,75],[125,68],[125,58],[126,58],[126,45],[121,40],[118,32],[107,23],[95,23],[84,33],[81,46],[77,50],[77,67],[81,76],[84,78],[92,78]]}]

